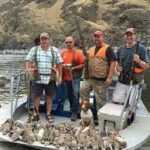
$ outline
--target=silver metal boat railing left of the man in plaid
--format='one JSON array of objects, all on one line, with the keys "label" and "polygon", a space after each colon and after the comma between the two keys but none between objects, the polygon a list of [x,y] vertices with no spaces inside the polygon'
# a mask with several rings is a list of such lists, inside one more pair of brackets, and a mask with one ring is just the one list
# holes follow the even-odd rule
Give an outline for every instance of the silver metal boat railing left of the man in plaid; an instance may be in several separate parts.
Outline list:
[{"label": "silver metal boat railing left of the man in plaid", "polygon": [[26,93],[26,74],[20,73],[13,75],[10,79],[10,104],[11,104],[11,119],[13,119],[13,113],[18,106],[18,100],[20,96]]}]

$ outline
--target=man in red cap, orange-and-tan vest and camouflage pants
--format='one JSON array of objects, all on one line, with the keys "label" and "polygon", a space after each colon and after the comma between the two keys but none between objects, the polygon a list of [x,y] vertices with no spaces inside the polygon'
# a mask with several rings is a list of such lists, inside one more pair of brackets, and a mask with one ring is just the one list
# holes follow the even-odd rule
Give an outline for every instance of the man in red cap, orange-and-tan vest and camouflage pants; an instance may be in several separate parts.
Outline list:
[{"label": "man in red cap, orange-and-tan vest and camouflage pants", "polygon": [[112,48],[104,43],[102,31],[94,32],[93,38],[95,46],[90,48],[88,56],[89,78],[83,81],[80,96],[82,100],[89,100],[89,93],[93,90],[99,109],[106,102],[106,87],[112,83],[116,56]]}]

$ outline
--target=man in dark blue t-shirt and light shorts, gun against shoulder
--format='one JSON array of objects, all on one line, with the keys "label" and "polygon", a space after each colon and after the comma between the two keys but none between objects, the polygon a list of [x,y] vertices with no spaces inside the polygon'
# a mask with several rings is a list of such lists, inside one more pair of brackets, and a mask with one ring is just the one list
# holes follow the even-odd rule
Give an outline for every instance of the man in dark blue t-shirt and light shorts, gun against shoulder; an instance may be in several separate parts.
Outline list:
[{"label": "man in dark blue t-shirt and light shorts, gun against shoulder", "polygon": [[[136,89],[144,78],[144,71],[149,68],[149,60],[144,45],[136,41],[136,32],[134,28],[127,28],[124,35],[125,45],[121,46],[117,53],[117,70],[120,72],[116,89],[113,93],[113,102],[124,104],[126,95],[133,87],[135,91],[130,94],[130,112],[132,116],[134,107]],[[131,119],[131,122],[133,119]],[[130,124],[131,122],[128,122]]]}]

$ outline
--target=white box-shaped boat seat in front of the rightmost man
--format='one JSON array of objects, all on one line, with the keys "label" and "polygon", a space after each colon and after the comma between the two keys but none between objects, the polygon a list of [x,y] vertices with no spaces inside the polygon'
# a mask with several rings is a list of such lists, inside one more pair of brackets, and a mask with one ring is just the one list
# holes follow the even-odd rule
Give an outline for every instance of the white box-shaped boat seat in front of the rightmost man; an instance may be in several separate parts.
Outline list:
[{"label": "white box-shaped boat seat in front of the rightmost man", "polygon": [[122,130],[127,127],[128,114],[136,112],[137,103],[141,99],[142,84],[130,86],[127,92],[124,105],[106,103],[98,111],[100,130],[112,131],[114,129]]}]

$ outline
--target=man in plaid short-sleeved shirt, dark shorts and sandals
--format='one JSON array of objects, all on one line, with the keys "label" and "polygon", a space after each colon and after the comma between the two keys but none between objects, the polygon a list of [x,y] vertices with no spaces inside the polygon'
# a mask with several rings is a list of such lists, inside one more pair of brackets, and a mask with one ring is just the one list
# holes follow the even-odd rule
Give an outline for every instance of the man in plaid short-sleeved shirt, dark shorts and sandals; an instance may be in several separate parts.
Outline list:
[{"label": "man in plaid short-sleeved shirt, dark shorts and sandals", "polygon": [[58,69],[58,84],[62,82],[62,62],[63,59],[59,53],[59,50],[51,46],[50,36],[48,33],[43,32],[40,34],[40,45],[31,48],[26,57],[26,73],[36,73],[34,75],[35,80],[35,95],[34,95],[34,117],[33,121],[38,121],[39,117],[39,105],[40,99],[45,90],[47,98],[47,112],[46,119],[48,122],[52,122],[51,116],[52,99],[56,94],[56,84],[52,77],[53,68]]}]

